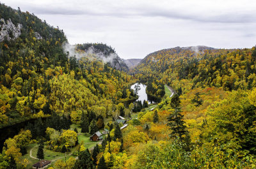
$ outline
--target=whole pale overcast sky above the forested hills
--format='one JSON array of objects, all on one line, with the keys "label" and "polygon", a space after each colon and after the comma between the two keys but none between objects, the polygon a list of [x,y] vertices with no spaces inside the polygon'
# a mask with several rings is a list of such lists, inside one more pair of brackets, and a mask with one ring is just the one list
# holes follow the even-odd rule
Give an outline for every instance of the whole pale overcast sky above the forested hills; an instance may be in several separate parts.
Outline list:
[{"label": "whole pale overcast sky above the forested hills", "polygon": [[124,59],[156,50],[256,45],[255,0],[0,0],[59,26],[70,44],[102,42]]}]

